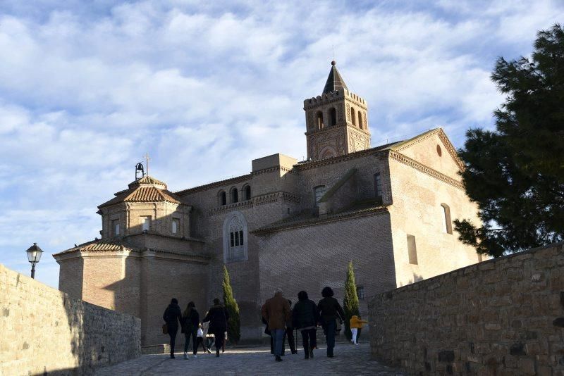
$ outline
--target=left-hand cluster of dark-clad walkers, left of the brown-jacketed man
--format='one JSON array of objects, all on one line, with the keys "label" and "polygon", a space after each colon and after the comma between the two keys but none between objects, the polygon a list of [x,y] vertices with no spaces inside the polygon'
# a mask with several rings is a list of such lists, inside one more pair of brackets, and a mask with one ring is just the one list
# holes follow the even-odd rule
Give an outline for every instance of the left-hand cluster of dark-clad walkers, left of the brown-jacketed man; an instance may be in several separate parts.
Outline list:
[{"label": "left-hand cluster of dark-clad walkers, left of the brown-jacketed man", "polygon": [[173,298],[163,314],[165,322],[163,332],[171,337],[171,358],[174,358],[176,334],[180,327],[184,333],[184,358],[188,359],[188,346],[192,339],[192,354],[197,357],[197,351],[202,346],[204,352],[211,353],[209,347],[215,342],[216,356],[219,351],[225,351],[225,337],[227,332],[228,311],[221,305],[219,299],[214,299],[214,305],[207,311],[204,320],[200,321],[200,313],[193,301],[188,303],[184,312],[180,311],[178,300]]}]

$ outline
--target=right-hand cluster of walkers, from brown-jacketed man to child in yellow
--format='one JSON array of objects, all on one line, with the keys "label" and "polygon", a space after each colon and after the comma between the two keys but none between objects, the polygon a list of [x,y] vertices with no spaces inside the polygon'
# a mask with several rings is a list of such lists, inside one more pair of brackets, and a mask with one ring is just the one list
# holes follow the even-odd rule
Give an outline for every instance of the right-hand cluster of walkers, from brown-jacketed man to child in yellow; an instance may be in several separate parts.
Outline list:
[{"label": "right-hand cluster of walkers, from brown-jacketed man to child in yellow", "polygon": [[[317,326],[321,325],[327,342],[327,357],[333,358],[335,348],[335,334],[337,322],[342,324],[345,313],[341,304],[333,297],[333,289],[324,287],[321,291],[323,299],[315,304],[309,300],[307,292],[298,293],[298,303],[291,309],[292,302],[284,298],[282,290],[276,289],[274,296],[268,299],[262,306],[262,319],[266,324],[264,332],[271,336],[271,353],[276,361],[282,361],[284,356],[284,341],[288,338],[291,353],[295,350],[293,330],[300,330],[304,348],[304,358],[314,357],[314,349],[317,348]],[[367,321],[360,320],[357,315],[350,319],[351,331],[353,331],[353,344],[357,344],[357,331]],[[354,330],[353,330],[354,328]]]}]

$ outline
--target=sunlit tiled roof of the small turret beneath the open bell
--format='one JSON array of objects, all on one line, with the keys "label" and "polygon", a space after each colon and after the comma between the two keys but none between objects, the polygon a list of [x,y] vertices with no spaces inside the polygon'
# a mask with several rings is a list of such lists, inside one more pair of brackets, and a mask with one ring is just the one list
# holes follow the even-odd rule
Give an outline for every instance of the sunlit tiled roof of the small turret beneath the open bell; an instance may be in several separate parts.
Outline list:
[{"label": "sunlit tiled roof of the small turret beneath the open bell", "polygon": [[[152,184],[159,184],[164,188]],[[162,202],[181,203],[180,197],[166,189],[166,184],[154,177],[145,176],[129,184],[129,189],[118,192],[114,199],[106,201],[98,208],[114,205],[121,202]]]}]

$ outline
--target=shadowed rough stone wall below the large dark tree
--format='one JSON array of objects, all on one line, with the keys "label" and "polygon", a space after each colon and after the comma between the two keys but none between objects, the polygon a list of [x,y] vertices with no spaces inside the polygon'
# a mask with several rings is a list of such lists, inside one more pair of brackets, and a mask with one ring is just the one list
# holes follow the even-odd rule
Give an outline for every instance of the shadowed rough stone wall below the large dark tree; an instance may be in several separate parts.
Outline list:
[{"label": "shadowed rough stone wall below the large dark tree", "polygon": [[564,375],[564,243],[369,299],[374,358],[414,375]]}]

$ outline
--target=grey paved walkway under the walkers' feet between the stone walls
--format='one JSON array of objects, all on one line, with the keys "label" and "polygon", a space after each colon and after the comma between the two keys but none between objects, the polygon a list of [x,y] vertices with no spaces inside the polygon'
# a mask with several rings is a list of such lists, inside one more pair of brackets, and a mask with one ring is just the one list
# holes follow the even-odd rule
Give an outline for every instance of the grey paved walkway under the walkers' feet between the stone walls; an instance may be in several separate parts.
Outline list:
[{"label": "grey paved walkway under the walkers' feet between the stone walls", "polygon": [[323,347],[315,351],[314,359],[305,360],[286,352],[282,362],[275,362],[266,347],[226,349],[219,358],[215,353],[198,354],[187,361],[182,353],[176,359],[168,355],[144,355],[99,368],[97,376],[115,375],[403,375],[400,371],[370,360],[369,344],[337,344],[335,358],[327,358]]}]

